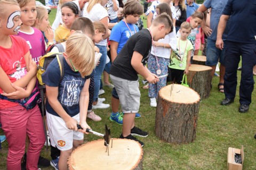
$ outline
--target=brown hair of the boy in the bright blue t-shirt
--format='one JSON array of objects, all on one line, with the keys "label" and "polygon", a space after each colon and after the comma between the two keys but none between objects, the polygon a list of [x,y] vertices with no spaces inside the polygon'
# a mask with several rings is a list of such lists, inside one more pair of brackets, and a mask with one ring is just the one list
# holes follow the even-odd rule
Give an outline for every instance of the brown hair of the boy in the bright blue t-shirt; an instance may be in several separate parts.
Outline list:
[{"label": "brown hair of the boy in the bright blue t-shirt", "polygon": [[144,12],[143,6],[138,1],[126,2],[123,9],[124,16],[138,14],[142,15]]}]

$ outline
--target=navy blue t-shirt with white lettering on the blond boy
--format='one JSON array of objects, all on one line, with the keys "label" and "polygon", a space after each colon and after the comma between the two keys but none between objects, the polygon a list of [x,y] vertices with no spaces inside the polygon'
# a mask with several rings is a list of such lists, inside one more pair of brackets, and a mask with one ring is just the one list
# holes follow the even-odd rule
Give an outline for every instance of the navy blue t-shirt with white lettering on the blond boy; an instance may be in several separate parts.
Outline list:
[{"label": "navy blue t-shirt with white lettering on the blond boy", "polygon": [[[70,68],[65,59],[63,59],[63,63],[65,71],[61,82],[60,67],[57,58],[54,58],[48,65],[46,71],[42,74],[42,80],[47,86],[59,88],[58,100],[67,114],[73,117],[79,113],[81,90],[84,87],[86,79],[89,79],[90,76],[82,78],[79,72],[75,72]],[[45,109],[50,114],[59,116],[49,104],[48,99],[46,100]]]}]

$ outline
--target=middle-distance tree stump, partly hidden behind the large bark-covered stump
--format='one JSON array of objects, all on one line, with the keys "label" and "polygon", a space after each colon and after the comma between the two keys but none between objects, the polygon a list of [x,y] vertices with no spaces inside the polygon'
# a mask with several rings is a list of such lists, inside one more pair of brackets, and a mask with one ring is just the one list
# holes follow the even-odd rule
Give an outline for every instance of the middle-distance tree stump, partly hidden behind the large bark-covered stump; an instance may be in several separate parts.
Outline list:
[{"label": "middle-distance tree stump, partly hidden behind the large bark-covered stump", "polygon": [[187,80],[189,87],[200,95],[201,99],[210,96],[212,67],[205,65],[191,64],[188,68]]}]

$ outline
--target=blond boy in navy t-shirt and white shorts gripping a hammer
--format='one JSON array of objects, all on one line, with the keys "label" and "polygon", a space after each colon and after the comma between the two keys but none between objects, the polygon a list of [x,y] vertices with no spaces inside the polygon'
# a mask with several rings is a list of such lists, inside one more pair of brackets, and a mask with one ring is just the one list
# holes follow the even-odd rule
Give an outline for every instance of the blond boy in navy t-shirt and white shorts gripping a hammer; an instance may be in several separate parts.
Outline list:
[{"label": "blond boy in navy t-shirt and white shorts gripping a hammer", "polygon": [[[86,44],[86,46],[85,46]],[[82,145],[86,128],[89,103],[90,75],[94,68],[94,45],[84,33],[76,31],[66,42],[63,53],[64,77],[60,82],[57,58],[49,64],[42,79],[46,84],[46,117],[51,145],[61,154],[59,169],[67,169],[67,160],[73,147]],[[83,130],[77,131],[77,124]],[[83,133],[81,133],[83,132]]]}]

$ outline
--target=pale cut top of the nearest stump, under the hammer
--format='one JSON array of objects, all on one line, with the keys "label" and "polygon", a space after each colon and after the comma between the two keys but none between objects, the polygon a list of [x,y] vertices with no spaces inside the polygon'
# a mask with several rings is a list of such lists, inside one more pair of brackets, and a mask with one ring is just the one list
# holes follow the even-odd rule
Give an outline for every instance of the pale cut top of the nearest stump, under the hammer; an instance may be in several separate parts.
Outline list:
[{"label": "pale cut top of the nearest stump, under the hammer", "polygon": [[75,149],[68,159],[72,170],[86,169],[142,169],[143,151],[139,142],[130,139],[111,139],[109,155],[104,140],[87,142]]}]

